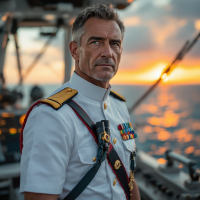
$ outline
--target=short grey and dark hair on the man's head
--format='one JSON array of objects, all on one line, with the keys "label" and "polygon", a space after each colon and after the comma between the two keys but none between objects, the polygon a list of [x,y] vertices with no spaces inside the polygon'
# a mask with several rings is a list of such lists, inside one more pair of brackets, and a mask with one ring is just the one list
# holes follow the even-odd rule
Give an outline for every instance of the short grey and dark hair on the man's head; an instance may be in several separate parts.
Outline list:
[{"label": "short grey and dark hair on the man's head", "polygon": [[98,18],[104,20],[114,20],[117,22],[122,38],[124,37],[125,27],[123,22],[120,20],[117,11],[114,9],[112,4],[98,4],[92,7],[87,7],[81,11],[76,17],[72,26],[72,37],[73,41],[81,45],[81,37],[84,34],[84,25],[89,18]]}]

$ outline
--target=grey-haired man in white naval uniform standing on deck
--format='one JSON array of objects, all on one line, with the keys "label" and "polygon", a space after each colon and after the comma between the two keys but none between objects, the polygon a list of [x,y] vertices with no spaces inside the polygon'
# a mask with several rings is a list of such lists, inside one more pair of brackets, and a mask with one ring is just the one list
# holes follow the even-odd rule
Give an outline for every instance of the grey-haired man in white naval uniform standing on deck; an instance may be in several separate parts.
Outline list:
[{"label": "grey-haired man in white naval uniform standing on deck", "polygon": [[[75,72],[52,96],[31,108],[22,127],[20,192],[25,194],[25,200],[64,199],[96,162],[97,143],[79,115],[66,104],[69,98],[94,123],[109,120],[110,143],[122,162],[117,160],[119,167],[123,165],[129,176],[134,139],[124,140],[117,128],[130,121],[129,114],[124,98],[111,92],[109,85],[118,70],[124,31],[111,5],[86,8],[75,19],[69,45]],[[60,99],[65,103],[59,104]],[[140,199],[135,182],[131,198]],[[105,159],[76,199],[125,200],[127,196]]]}]

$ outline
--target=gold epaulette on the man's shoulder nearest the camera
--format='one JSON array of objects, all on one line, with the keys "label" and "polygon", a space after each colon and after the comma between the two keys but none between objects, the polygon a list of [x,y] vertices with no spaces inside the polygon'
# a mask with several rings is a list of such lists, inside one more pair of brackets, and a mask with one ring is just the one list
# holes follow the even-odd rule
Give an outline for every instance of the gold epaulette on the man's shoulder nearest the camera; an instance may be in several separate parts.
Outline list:
[{"label": "gold epaulette on the man's shoulder nearest the camera", "polygon": [[65,103],[70,101],[74,96],[78,94],[77,90],[71,89],[69,87],[61,90],[60,92],[47,97],[46,99],[42,99],[41,101],[53,106],[54,109],[58,110]]}]

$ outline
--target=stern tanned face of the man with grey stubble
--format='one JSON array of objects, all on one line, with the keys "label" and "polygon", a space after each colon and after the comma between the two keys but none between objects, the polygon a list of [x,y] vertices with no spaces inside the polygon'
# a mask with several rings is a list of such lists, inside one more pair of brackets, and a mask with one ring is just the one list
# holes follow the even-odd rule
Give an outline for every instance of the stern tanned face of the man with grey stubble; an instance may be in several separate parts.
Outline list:
[{"label": "stern tanned face of the man with grey stubble", "polygon": [[89,77],[109,81],[116,74],[121,58],[120,28],[113,20],[90,18],[84,30],[78,48],[78,67]]}]

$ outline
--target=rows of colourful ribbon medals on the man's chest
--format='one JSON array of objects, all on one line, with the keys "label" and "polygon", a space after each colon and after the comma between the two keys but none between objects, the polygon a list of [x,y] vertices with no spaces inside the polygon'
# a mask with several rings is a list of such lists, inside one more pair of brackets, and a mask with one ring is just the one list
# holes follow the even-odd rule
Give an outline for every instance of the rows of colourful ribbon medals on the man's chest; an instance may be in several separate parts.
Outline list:
[{"label": "rows of colourful ribbon medals on the man's chest", "polygon": [[123,140],[129,140],[129,139],[137,138],[137,134],[133,130],[131,122],[119,124],[118,129],[121,133]]}]

